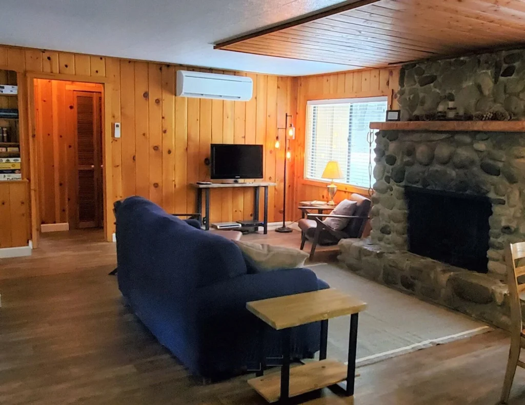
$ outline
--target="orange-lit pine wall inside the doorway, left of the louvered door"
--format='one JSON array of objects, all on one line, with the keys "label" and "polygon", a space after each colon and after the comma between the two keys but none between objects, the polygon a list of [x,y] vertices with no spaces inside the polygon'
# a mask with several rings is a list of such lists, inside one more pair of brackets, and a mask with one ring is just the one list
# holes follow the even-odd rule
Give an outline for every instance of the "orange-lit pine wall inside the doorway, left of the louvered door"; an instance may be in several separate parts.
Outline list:
[{"label": "orange-lit pine wall inside the doorway, left of the louvered door", "polygon": [[75,90],[102,92],[97,83],[35,79],[35,125],[41,223],[75,222]]}]

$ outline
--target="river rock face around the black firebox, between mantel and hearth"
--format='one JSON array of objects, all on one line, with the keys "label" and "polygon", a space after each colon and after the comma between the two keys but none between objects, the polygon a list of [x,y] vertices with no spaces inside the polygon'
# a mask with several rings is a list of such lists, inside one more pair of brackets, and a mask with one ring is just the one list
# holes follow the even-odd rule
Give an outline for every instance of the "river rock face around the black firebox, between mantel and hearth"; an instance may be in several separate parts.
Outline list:
[{"label": "river rock face around the black firebox, between mantel and hearth", "polygon": [[506,274],[503,249],[525,240],[525,135],[380,131],[376,134],[371,240],[407,249],[404,186],[487,196],[489,273]]}]

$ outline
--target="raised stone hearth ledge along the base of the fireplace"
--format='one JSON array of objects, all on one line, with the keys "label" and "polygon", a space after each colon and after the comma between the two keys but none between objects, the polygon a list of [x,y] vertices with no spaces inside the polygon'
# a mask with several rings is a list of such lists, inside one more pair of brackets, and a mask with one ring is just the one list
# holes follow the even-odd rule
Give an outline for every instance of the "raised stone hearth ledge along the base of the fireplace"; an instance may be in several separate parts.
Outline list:
[{"label": "raised stone hearth ledge along the base of the fireplace", "polygon": [[339,248],[339,261],[367,279],[508,327],[508,288],[496,274],[460,269],[370,239],[343,239]]}]

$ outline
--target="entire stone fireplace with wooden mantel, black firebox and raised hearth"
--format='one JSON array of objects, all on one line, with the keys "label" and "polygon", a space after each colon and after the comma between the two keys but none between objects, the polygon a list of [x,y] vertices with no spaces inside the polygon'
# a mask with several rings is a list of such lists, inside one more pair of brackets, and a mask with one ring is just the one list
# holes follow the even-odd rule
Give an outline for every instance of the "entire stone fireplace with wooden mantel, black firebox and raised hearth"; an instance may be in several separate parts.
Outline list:
[{"label": "entire stone fireplace with wooden mantel, black firebox and raised hearth", "polygon": [[[525,240],[525,50],[409,63],[397,100],[404,121],[371,125],[370,238],[341,241],[339,260],[505,327],[504,249]],[[466,118],[513,121],[417,121],[450,102]]]}]

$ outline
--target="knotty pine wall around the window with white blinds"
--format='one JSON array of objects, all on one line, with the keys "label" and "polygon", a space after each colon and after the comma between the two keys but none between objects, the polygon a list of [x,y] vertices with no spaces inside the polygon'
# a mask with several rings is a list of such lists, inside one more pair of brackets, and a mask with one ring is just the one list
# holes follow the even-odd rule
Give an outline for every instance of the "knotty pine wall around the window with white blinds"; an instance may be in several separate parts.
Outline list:
[{"label": "knotty pine wall around the window with white blinds", "polygon": [[[306,148],[304,131],[307,101],[385,95],[388,97],[390,108],[397,109],[396,93],[398,86],[399,69],[397,68],[322,74],[298,79],[294,206],[297,206],[299,201],[304,200],[328,201],[328,183],[304,179],[304,152]],[[367,195],[368,191],[361,187],[339,184],[335,196],[336,202],[346,198],[351,193]],[[300,218],[300,213],[296,211],[293,213],[294,220]]]}]

